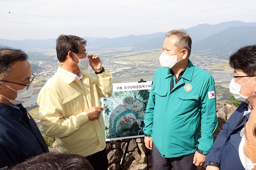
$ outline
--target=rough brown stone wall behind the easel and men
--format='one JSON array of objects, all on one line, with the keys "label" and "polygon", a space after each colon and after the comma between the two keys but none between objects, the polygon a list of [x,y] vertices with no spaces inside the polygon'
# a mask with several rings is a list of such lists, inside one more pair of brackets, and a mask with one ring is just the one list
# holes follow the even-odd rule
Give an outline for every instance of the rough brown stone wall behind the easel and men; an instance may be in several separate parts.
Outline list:
[{"label": "rough brown stone wall behind the easel and men", "polygon": [[[225,103],[224,101],[217,101],[217,117],[218,127],[214,132],[214,140],[218,136],[222,126],[226,123],[226,120],[235,111],[236,107]],[[126,149],[128,140],[117,140],[106,142],[106,148],[108,153],[108,170],[119,170],[122,163],[123,154]],[[55,142],[54,142],[55,143]],[[54,144],[55,147],[56,144]],[[51,149],[56,150],[56,149]],[[123,170],[146,170],[147,158],[149,170],[152,170],[152,152],[146,149],[144,146],[144,138],[132,139],[129,143],[128,151],[124,160]],[[197,170],[205,170],[205,166],[199,166]]]}]

